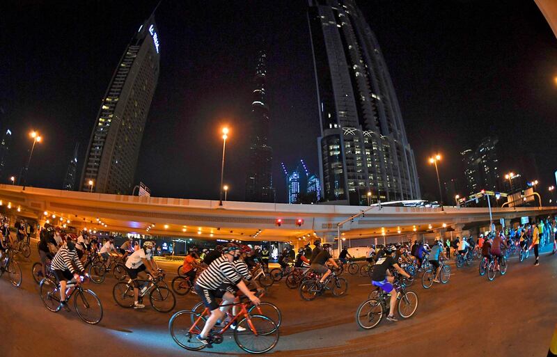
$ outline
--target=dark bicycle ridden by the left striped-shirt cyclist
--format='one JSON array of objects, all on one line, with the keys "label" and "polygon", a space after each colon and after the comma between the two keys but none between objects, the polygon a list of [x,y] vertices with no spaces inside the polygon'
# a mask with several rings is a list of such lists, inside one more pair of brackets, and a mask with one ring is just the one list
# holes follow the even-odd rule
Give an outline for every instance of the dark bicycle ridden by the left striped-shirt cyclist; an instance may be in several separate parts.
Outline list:
[{"label": "dark bicycle ridden by the left striped-shirt cyclist", "polygon": [[[75,294],[74,309],[79,318],[87,324],[98,324],[102,319],[102,304],[97,295],[90,289],[84,289],[81,283],[84,283],[83,277],[79,277],[79,281],[75,279],[68,281],[68,285],[66,285],[66,301],[70,301]],[[45,304],[48,310],[52,312],[60,311],[59,284],[54,283],[50,278],[43,278],[39,284],[39,294],[42,303]]]}]

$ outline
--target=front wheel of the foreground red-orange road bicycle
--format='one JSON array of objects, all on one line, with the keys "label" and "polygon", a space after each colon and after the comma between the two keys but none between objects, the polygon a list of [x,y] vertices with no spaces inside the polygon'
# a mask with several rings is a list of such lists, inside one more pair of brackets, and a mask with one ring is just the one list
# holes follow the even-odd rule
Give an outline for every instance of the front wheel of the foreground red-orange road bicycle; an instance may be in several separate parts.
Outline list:
[{"label": "front wheel of the foreground red-orange road bicycle", "polygon": [[[278,328],[269,317],[253,315],[244,317],[234,330],[237,345],[250,354],[264,354],[271,351],[278,342]],[[245,331],[242,328],[245,328]]]}]

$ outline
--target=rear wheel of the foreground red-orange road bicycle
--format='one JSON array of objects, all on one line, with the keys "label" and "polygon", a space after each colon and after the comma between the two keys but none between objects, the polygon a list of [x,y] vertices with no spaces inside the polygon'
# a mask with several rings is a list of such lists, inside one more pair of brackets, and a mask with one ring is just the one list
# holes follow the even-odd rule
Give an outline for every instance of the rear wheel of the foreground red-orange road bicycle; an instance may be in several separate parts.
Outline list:
[{"label": "rear wheel of the foreground red-orange road bicycle", "polygon": [[205,326],[205,317],[200,317],[195,312],[182,310],[172,315],[168,321],[168,331],[178,346],[189,351],[199,351],[205,345],[197,339]]}]

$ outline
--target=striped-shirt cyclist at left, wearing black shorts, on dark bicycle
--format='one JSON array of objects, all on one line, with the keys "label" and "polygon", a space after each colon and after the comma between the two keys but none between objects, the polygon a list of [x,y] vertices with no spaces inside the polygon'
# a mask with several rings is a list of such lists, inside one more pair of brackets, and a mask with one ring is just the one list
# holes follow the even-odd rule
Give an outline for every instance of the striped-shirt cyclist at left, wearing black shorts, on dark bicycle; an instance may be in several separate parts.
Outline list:
[{"label": "striped-shirt cyclist at left, wearing black shorts, on dark bicycle", "polygon": [[[81,264],[79,257],[77,257],[75,241],[73,241],[70,237],[66,239],[65,244],[58,249],[58,252],[56,252],[56,255],[52,258],[50,267],[52,268],[52,273],[54,273],[54,277],[56,278],[56,283],[60,284],[60,306],[58,307],[58,310],[65,308],[65,310],[69,311],[70,308],[68,308],[68,301],[65,296],[66,284],[68,283],[68,280],[72,280],[72,278],[79,281],[79,276],[84,274],[83,265]],[[85,275],[88,276],[88,274]]]}]

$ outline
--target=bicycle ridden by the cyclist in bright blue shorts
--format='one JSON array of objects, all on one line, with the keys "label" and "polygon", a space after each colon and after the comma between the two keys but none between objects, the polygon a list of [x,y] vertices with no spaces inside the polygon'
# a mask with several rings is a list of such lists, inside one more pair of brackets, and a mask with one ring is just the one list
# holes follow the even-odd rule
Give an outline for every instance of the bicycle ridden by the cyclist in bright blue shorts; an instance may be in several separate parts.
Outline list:
[{"label": "bicycle ridden by the cyclist in bright blue shorts", "polygon": [[[391,294],[397,294],[398,315],[403,319],[408,319],[418,309],[418,294],[407,291],[405,284],[401,283],[398,278],[395,279],[394,285],[395,289],[391,291]],[[388,315],[391,309],[390,298],[387,299],[390,294],[384,292],[383,289],[379,289],[379,291],[377,289],[375,290],[377,291],[376,297],[363,301],[356,310],[356,323],[366,330],[377,326],[383,319],[383,315]]]}]

